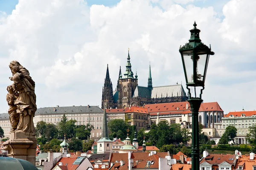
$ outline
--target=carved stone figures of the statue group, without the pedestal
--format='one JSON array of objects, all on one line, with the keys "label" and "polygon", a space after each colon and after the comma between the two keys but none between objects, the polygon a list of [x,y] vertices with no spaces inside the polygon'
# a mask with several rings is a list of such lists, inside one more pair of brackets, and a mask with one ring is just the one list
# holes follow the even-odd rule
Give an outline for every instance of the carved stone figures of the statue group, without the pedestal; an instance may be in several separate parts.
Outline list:
[{"label": "carved stone figures of the statue group, without the pedestal", "polygon": [[[12,61],[10,62],[9,67],[13,75],[10,77],[13,84],[12,86],[8,86],[9,93],[7,94],[8,98],[6,96],[6,99],[10,107],[9,114],[12,129],[17,132],[25,132],[29,135],[35,135],[35,127],[33,123],[33,117],[35,116],[35,111],[37,109],[35,104],[35,82],[30,77],[29,71],[19,62]],[[19,115],[18,121],[16,119],[17,114]]]}]

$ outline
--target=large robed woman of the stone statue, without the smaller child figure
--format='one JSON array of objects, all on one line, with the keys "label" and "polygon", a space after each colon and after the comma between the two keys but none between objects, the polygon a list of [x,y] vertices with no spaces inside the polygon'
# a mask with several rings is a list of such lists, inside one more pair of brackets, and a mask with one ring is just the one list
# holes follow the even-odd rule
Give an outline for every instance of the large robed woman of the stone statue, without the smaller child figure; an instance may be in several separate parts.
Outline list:
[{"label": "large robed woman of the stone statue, without the smaller child figure", "polygon": [[26,132],[29,135],[35,135],[33,117],[37,106],[35,95],[35,82],[29,75],[29,71],[20,65],[17,61],[12,61],[9,65],[12,70],[14,81],[13,86],[18,93],[14,104],[17,106],[17,113],[20,114],[20,121],[17,125],[17,132]]}]

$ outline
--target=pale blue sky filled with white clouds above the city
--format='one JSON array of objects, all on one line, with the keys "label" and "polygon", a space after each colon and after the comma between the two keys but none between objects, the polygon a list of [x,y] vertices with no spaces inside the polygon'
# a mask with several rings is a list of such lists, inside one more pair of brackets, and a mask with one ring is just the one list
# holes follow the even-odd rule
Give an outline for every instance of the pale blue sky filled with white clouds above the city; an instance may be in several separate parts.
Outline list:
[{"label": "pale blue sky filled with white clouds above the city", "polygon": [[113,87],[128,48],[138,84],[183,84],[180,45],[196,21],[209,59],[202,98],[224,113],[256,109],[255,0],[0,0],[0,112],[9,62],[36,83],[37,106],[101,105],[107,64]]}]

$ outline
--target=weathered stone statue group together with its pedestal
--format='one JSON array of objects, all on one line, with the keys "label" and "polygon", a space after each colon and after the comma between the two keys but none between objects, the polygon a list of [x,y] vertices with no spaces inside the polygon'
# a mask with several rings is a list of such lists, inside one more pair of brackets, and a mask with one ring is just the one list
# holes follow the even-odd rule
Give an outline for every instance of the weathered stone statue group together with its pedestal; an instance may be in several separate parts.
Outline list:
[{"label": "weathered stone statue group together with its pedestal", "polygon": [[6,101],[9,105],[8,113],[12,125],[10,138],[3,142],[3,150],[8,150],[9,157],[20,158],[35,164],[37,141],[33,117],[37,106],[35,96],[35,82],[29,71],[19,62],[12,61],[9,65],[13,81],[7,87]]}]

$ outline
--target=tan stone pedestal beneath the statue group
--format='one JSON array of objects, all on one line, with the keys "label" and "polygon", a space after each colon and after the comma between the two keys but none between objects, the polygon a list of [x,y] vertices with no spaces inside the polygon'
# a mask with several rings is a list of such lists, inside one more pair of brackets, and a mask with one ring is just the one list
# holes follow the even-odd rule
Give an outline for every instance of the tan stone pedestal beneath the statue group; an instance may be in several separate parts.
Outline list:
[{"label": "tan stone pedestal beneath the statue group", "polygon": [[8,150],[9,157],[20,158],[35,165],[35,151],[37,141],[35,135],[23,132],[11,132],[10,139],[3,143],[4,150]]}]

